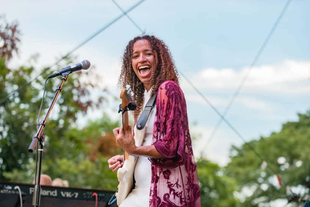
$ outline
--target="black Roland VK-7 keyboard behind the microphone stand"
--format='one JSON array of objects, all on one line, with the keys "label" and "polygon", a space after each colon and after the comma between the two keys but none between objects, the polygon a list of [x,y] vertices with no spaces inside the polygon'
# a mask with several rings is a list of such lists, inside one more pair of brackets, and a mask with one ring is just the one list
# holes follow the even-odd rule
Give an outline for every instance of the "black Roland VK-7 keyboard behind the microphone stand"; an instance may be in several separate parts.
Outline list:
[{"label": "black Roland VK-7 keyboard behind the microphone stand", "polygon": [[[20,192],[17,190],[20,188]],[[0,206],[1,207],[18,207],[20,205],[20,194],[23,200],[23,207],[32,206],[32,196],[34,185],[26,183],[11,183],[0,181]],[[108,201],[113,195],[112,191],[71,188],[71,187],[54,187],[42,186],[41,188],[41,205],[44,207],[61,207],[75,206],[85,207],[94,206],[97,195],[97,206],[108,206]],[[112,207],[117,207],[116,203]]]}]

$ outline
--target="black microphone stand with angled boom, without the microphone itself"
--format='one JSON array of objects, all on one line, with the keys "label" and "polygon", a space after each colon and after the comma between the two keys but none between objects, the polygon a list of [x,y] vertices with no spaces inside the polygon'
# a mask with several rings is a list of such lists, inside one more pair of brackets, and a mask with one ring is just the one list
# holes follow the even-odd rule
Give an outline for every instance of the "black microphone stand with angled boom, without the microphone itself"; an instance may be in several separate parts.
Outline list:
[{"label": "black microphone stand with angled boom, without the microphone itself", "polygon": [[37,147],[37,155],[36,155],[36,175],[35,175],[35,186],[33,191],[33,199],[32,199],[32,206],[37,207],[40,206],[40,196],[41,196],[41,186],[40,186],[40,176],[41,176],[41,163],[42,163],[42,154],[43,154],[43,142],[44,142],[44,132],[43,129],[46,125],[47,117],[50,115],[51,110],[56,102],[56,99],[58,95],[60,94],[60,91],[62,90],[62,85],[64,84],[64,81],[67,80],[68,75],[71,73],[71,71],[64,73],[64,75],[61,78],[61,83],[56,89],[56,93],[54,96],[54,99],[50,105],[50,108],[48,109],[47,114],[45,115],[45,118],[40,123],[37,133],[33,135],[32,142],[29,145],[28,151],[33,152],[34,148]]}]

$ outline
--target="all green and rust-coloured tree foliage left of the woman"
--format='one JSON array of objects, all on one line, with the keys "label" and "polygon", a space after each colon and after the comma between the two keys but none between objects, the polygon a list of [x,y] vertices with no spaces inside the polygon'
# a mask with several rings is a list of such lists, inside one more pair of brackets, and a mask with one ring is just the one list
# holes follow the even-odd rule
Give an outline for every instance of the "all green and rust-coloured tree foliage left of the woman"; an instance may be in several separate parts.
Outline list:
[{"label": "all green and rust-coloured tree foliage left of the woman", "polygon": [[[45,71],[42,76],[28,84],[27,81],[41,72],[31,66],[34,58],[29,61],[30,66],[7,67],[7,61],[17,52],[19,37],[16,37],[17,23],[5,25],[9,26],[0,27],[0,43],[4,42],[0,45],[0,101],[5,100],[0,105],[0,179],[31,183],[35,173],[35,153],[29,153],[28,146],[37,128],[44,78],[51,72],[49,68],[42,68]],[[10,41],[14,44],[8,46]],[[72,59],[64,58],[57,68],[72,64]],[[84,81],[81,81],[81,73],[86,77]],[[95,84],[101,81],[100,76],[94,80],[93,76],[88,77],[90,75],[87,71],[75,72],[64,83],[44,129],[42,173],[66,179],[72,187],[115,189],[116,174],[108,169],[107,158],[113,153],[121,153],[112,136],[112,129],[120,123],[103,114],[102,119],[77,129],[78,114],[85,115],[106,101],[105,89]],[[59,84],[60,78],[47,81],[40,121]],[[102,92],[96,99],[91,98],[94,89]]]}]

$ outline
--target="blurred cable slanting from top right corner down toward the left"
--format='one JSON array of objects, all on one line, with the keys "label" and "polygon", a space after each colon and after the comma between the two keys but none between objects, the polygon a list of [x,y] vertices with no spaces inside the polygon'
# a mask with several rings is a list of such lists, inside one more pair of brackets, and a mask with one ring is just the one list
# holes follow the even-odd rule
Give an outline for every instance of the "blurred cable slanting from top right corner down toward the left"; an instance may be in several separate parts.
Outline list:
[{"label": "blurred cable slanting from top right corner down toward the left", "polygon": [[[265,46],[266,46],[267,43],[269,42],[269,39],[270,39],[272,33],[274,32],[274,30],[276,29],[277,25],[279,24],[279,22],[280,22],[282,16],[284,15],[284,13],[285,13],[287,7],[288,7],[289,4],[290,4],[290,1],[291,1],[291,0],[288,0],[288,1],[286,2],[285,7],[284,7],[283,10],[281,11],[281,13],[280,13],[280,15],[278,16],[276,22],[273,24],[273,26],[272,26],[272,28],[271,28],[269,34],[267,35],[265,41],[263,42],[263,45],[260,47],[260,49],[259,49],[257,55],[255,56],[253,62],[251,63],[249,69],[246,71],[245,76],[244,76],[243,79],[241,80],[240,85],[238,86],[236,92],[235,92],[234,95],[232,96],[232,99],[229,101],[228,105],[226,106],[226,108],[225,108],[225,110],[224,110],[224,113],[223,113],[223,117],[226,116],[227,112],[229,111],[230,107],[232,106],[232,103],[235,101],[237,95],[239,94],[239,92],[240,92],[240,90],[241,90],[241,87],[242,87],[243,84],[245,83],[246,79],[249,77],[250,70],[251,70],[251,69],[253,68],[253,66],[256,64],[257,60],[259,59],[259,56],[262,54],[262,52],[263,52]],[[221,118],[219,119],[219,121],[217,122],[217,124],[215,125],[215,128],[213,129],[213,131],[212,131],[212,133],[211,133],[209,139],[207,140],[207,142],[206,142],[204,148],[206,148],[206,147],[208,146],[208,144],[211,142],[211,140],[213,139],[213,137],[214,137],[216,131],[218,130],[219,126],[221,125],[222,121],[223,121],[223,118],[221,117]]]}]

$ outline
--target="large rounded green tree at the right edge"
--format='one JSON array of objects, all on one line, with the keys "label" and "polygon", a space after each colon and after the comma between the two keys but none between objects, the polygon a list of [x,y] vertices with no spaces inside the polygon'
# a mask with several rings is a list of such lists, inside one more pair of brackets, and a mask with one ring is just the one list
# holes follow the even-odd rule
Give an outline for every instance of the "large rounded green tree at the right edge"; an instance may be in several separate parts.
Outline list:
[{"label": "large rounded green tree at the right edge", "polygon": [[[273,200],[290,197],[292,193],[287,187],[296,186],[303,191],[294,193],[309,199],[310,112],[298,116],[298,121],[283,124],[278,133],[232,147],[227,175],[237,180],[240,189],[250,192],[247,196],[241,195],[242,206],[268,206]],[[248,145],[267,163],[266,168]]]}]

